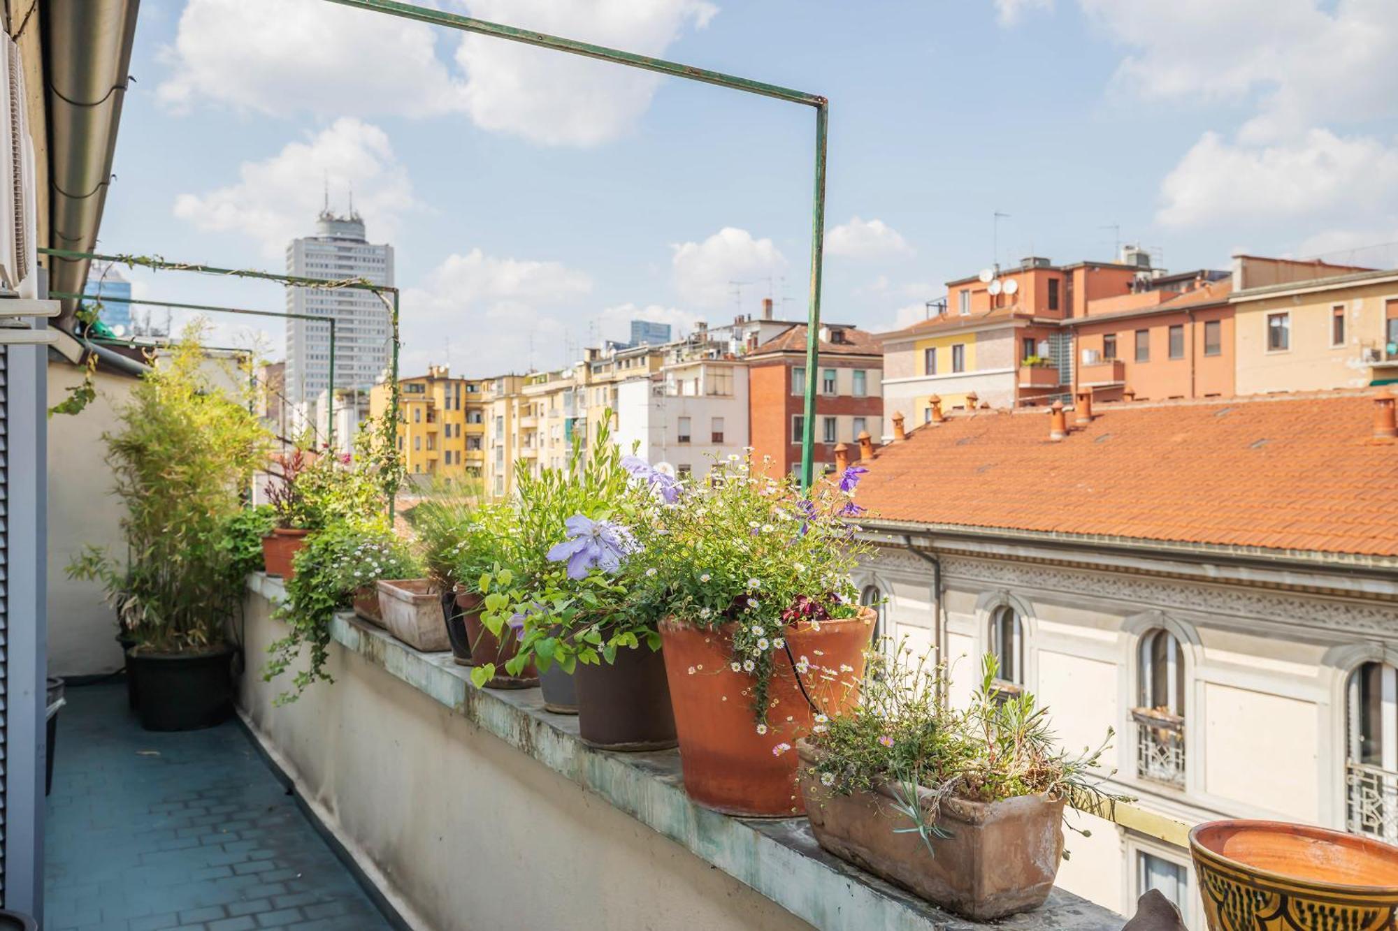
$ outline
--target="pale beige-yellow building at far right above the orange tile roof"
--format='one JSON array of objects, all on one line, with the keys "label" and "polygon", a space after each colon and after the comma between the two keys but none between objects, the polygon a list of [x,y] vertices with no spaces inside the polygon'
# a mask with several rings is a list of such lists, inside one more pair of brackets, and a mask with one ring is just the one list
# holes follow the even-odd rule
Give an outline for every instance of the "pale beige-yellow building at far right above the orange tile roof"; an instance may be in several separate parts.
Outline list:
[{"label": "pale beige-yellow building at far right above the orange tile roof", "polygon": [[1398,380],[1398,270],[1246,287],[1233,309],[1239,394]]}]

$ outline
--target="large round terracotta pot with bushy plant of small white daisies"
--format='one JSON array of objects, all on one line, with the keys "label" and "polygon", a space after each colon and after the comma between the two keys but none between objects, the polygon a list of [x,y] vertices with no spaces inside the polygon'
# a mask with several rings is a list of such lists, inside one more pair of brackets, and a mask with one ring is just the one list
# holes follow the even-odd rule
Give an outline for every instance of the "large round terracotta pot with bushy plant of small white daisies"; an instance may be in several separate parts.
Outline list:
[{"label": "large round terracotta pot with bushy plant of small white daisies", "polygon": [[705,805],[800,814],[795,759],[772,746],[857,698],[874,630],[849,577],[863,472],[802,493],[728,456],[660,510],[636,601],[663,616],[685,790]]}]

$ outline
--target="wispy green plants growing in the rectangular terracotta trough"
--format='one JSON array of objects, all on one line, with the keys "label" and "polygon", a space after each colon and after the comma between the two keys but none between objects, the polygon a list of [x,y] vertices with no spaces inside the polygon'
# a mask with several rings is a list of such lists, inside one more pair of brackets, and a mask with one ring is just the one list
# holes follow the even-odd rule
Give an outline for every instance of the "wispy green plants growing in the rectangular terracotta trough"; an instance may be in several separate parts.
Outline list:
[{"label": "wispy green plants growing in the rectangular terracotta trough", "polygon": [[[1092,812],[1124,801],[1124,795],[1103,788],[1114,772],[1103,769],[1111,728],[1097,748],[1069,753],[1054,738],[1048,709],[1029,692],[1000,691],[998,672],[995,657],[986,654],[969,707],[956,710],[944,700],[942,667],[913,661],[906,644],[891,653],[872,651],[861,703],[818,724],[807,738],[816,749],[808,774],[842,795],[886,786],[895,811],[909,822],[895,830],[917,832],[932,856],[932,842],[948,836],[937,825],[946,798],[995,802],[1048,795]],[[779,751],[787,749],[779,745]],[[931,805],[920,787],[930,790]]]}]

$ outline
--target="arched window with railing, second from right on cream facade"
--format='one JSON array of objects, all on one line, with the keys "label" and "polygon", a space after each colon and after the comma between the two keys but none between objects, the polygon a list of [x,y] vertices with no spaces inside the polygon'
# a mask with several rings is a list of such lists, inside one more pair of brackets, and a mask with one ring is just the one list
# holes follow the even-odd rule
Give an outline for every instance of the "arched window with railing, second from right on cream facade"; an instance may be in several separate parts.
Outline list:
[{"label": "arched window with railing, second from right on cream facade", "polygon": [[1184,788],[1184,649],[1173,633],[1141,637],[1137,776]]}]

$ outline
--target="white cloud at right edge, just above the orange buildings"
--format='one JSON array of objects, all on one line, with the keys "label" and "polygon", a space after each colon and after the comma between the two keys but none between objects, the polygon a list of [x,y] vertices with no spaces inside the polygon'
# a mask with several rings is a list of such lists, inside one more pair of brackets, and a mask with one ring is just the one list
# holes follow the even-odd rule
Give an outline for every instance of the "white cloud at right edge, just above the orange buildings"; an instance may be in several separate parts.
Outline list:
[{"label": "white cloud at right edge, just above the orange buildings", "polygon": [[1373,138],[1311,130],[1295,144],[1229,144],[1205,133],[1162,183],[1158,219],[1362,217],[1392,210],[1398,151]]}]

